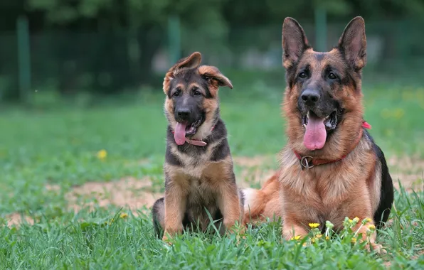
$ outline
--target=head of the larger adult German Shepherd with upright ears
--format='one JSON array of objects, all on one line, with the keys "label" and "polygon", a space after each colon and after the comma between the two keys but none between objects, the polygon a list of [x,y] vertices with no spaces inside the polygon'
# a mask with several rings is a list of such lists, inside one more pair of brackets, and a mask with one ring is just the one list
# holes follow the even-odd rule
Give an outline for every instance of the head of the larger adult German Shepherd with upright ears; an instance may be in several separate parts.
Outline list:
[{"label": "head of the larger adult German Shepherd with upright ears", "polygon": [[336,158],[354,144],[362,124],[364,19],[354,18],[341,34],[339,44],[319,53],[309,45],[300,24],[285,18],[282,49],[289,144],[304,155]]}]

